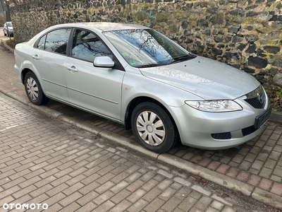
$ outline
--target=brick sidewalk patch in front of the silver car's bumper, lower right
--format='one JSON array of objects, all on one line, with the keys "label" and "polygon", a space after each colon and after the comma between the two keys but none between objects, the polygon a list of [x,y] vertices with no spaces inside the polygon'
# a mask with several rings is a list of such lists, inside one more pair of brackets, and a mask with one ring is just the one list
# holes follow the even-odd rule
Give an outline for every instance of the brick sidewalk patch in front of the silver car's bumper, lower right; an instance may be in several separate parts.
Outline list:
[{"label": "brick sidewalk patch in front of the silver car's bumper, lower right", "polygon": [[282,125],[268,122],[262,135],[222,151],[180,146],[169,153],[281,196]]}]

